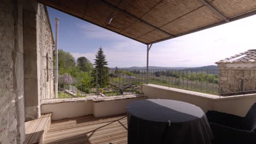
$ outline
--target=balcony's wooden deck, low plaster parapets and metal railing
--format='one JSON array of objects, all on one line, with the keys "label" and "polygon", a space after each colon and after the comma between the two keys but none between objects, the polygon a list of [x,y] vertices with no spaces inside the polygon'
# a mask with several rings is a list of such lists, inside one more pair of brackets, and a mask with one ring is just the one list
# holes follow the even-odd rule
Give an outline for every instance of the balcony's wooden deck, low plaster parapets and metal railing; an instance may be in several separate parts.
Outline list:
[{"label": "balcony's wooden deck, low plaster parapets and metal railing", "polygon": [[[245,116],[256,101],[256,94],[252,93],[255,76],[242,75],[242,81],[247,83],[237,85],[241,77],[235,73],[255,73],[255,70],[149,70],[149,75],[146,70],[120,70],[119,73],[109,70],[96,74],[107,75],[108,81],[87,77],[88,83],[82,83],[83,78],[79,72],[74,73],[75,70],[62,71],[65,73],[59,76],[68,74],[73,82],[59,83],[59,94],[62,94],[57,97],[53,93],[51,97],[42,97],[41,113],[53,113],[44,143],[127,143],[126,106],[139,99],[179,100],[199,106],[204,112],[217,110],[238,116]],[[54,77],[50,81],[53,80]],[[107,85],[103,87],[101,82]],[[243,87],[249,82],[249,88]],[[49,83],[45,88],[53,88],[50,85],[53,86]],[[233,95],[226,95],[231,91]]]}]

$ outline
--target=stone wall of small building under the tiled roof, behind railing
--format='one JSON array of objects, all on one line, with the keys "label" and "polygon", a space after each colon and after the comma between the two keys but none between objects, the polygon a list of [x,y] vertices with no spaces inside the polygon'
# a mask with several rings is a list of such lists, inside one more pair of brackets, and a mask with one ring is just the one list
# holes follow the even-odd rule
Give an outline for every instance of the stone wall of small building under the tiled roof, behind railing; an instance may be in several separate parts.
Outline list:
[{"label": "stone wall of small building under the tiled roof, behind railing", "polygon": [[226,67],[227,65],[225,64],[219,64],[218,66],[219,69],[221,69],[219,70],[220,95],[255,93],[255,67],[248,68],[246,67],[246,64],[243,64],[243,67],[245,68],[241,68],[237,64],[232,64],[232,67]]}]

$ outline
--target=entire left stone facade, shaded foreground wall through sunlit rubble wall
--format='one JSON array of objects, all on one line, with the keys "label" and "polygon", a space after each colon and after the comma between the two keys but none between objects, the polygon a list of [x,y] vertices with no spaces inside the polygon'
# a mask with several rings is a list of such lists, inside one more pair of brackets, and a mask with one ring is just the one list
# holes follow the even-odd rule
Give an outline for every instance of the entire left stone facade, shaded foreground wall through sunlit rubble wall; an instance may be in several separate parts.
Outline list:
[{"label": "entire left stone facade, shaded foreground wall through sunlit rubble wall", "polygon": [[[49,86],[53,81],[44,82],[41,69],[53,67],[54,40],[42,4],[33,0],[0,3],[0,143],[23,143],[25,116],[40,116],[44,88],[46,95],[53,94]],[[25,115],[25,107],[31,115]]]}]

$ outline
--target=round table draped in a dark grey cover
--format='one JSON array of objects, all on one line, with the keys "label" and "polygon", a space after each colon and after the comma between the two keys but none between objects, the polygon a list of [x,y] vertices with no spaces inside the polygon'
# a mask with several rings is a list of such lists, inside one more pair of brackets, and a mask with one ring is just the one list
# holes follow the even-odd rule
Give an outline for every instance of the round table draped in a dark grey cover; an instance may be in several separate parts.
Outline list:
[{"label": "round table draped in a dark grey cover", "polygon": [[127,106],[128,143],[211,143],[205,113],[176,100],[147,99]]}]

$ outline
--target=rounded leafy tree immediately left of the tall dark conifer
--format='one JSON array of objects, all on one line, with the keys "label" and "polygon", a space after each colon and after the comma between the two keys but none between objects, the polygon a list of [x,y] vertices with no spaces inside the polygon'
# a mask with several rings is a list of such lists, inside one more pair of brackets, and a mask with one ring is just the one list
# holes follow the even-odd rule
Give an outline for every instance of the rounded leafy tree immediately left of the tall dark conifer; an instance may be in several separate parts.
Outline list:
[{"label": "rounded leafy tree immediately left of the tall dark conifer", "polygon": [[77,67],[80,69],[80,71],[90,71],[93,69],[92,63],[86,58],[86,57],[79,57],[77,59]]}]

